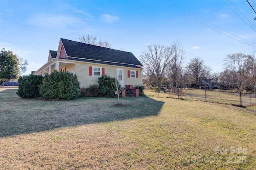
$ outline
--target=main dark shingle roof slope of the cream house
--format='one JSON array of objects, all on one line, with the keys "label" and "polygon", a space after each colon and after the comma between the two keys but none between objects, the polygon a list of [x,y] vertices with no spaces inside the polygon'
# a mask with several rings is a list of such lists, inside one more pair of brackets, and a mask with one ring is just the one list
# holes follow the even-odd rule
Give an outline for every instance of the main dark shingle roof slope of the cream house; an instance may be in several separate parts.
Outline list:
[{"label": "main dark shingle roof slope of the cream house", "polygon": [[142,63],[140,63],[140,61],[130,52],[75,42],[63,38],[61,38],[61,41],[64,45],[68,57],[142,65]]}]

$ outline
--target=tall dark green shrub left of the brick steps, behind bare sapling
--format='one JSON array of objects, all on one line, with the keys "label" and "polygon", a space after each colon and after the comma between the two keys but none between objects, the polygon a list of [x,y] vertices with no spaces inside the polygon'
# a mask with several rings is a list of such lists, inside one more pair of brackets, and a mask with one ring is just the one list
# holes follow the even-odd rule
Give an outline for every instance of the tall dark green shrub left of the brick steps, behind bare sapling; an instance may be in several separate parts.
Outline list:
[{"label": "tall dark green shrub left of the brick steps, behind bare sapling", "polygon": [[112,89],[112,82],[114,82],[114,80],[115,78],[110,77],[108,75],[102,75],[101,77],[99,77],[98,83],[101,97],[116,97],[115,91]]}]

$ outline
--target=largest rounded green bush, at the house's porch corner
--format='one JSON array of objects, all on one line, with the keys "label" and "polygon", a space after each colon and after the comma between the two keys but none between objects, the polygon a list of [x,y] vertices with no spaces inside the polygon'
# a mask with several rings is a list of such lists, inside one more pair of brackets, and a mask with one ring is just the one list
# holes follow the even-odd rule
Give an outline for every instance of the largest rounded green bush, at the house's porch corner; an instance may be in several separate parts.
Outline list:
[{"label": "largest rounded green bush, at the house's porch corner", "polygon": [[80,94],[76,75],[64,71],[54,71],[43,77],[39,93],[44,99],[76,99]]}]

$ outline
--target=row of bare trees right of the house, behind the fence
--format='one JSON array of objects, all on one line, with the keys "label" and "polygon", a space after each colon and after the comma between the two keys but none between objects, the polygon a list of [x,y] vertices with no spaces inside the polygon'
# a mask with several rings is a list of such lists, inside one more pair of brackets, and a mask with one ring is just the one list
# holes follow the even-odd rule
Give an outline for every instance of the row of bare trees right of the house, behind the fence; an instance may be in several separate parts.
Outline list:
[{"label": "row of bare trees right of the house, behind the fence", "polygon": [[144,65],[143,81],[148,86],[168,85],[175,88],[202,88],[203,80],[213,79],[220,89],[256,92],[256,58],[234,53],[226,55],[224,71],[214,72],[200,57],[184,64],[185,50],[178,41],[170,46],[148,45],[140,60]]}]

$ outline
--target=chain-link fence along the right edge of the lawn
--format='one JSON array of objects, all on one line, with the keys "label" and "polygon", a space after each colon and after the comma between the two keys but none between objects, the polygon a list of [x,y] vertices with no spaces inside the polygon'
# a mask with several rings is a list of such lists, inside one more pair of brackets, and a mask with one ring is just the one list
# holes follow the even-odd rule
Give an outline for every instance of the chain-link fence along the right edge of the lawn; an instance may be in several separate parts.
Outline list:
[{"label": "chain-link fence along the right edge of the lawn", "polygon": [[241,107],[256,104],[256,93],[236,93],[217,89],[175,89],[166,87],[160,88],[160,90],[164,93],[169,93],[170,97],[174,98],[223,103]]}]

